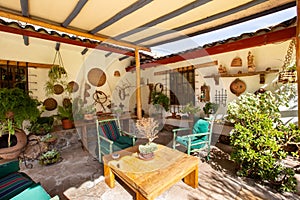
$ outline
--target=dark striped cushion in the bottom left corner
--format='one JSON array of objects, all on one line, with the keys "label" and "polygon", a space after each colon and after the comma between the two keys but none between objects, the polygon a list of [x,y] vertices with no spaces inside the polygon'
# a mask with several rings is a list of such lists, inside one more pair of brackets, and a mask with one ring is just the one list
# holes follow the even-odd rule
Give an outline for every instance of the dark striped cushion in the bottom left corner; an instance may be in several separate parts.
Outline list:
[{"label": "dark striped cushion in the bottom left corner", "polygon": [[0,179],[0,197],[10,199],[19,194],[34,182],[22,173],[14,172]]}]

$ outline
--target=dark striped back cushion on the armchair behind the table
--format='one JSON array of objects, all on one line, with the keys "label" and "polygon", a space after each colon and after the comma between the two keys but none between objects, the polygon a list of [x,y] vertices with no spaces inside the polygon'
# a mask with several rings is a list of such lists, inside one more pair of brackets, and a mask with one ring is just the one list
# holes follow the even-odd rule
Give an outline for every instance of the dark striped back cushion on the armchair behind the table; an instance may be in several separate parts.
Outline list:
[{"label": "dark striped back cushion on the armchair behind the table", "polygon": [[120,131],[116,121],[108,121],[100,126],[100,134],[112,141],[116,141],[120,137]]}]

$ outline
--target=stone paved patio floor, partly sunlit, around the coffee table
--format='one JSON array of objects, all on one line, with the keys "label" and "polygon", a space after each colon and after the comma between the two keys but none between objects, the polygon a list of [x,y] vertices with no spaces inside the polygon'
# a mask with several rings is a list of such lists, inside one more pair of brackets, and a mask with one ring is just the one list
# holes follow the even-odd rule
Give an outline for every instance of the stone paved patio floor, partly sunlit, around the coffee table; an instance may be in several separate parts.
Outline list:
[{"label": "stone paved patio floor, partly sunlit, around the coffee table", "polygon": [[[162,132],[159,142],[170,146],[170,137],[170,132]],[[59,195],[60,199],[134,199],[132,191],[123,187],[121,181],[118,181],[113,189],[106,186],[103,181],[102,164],[83,150],[80,143],[62,151],[62,157],[60,163],[51,166],[40,166],[34,161],[33,168],[26,169],[22,164],[21,171],[40,182],[51,196]],[[193,189],[183,182],[178,182],[157,200],[300,199],[296,194],[275,193],[253,180],[237,177],[234,165],[228,158],[228,154],[213,148],[210,163],[199,159],[198,188]]]}]

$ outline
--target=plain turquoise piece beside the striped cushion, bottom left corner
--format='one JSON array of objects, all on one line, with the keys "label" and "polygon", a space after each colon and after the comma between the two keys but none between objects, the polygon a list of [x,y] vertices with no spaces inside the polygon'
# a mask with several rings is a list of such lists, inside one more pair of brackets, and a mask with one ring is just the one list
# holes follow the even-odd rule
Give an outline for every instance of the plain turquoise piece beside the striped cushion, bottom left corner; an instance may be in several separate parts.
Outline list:
[{"label": "plain turquoise piece beside the striped cushion, bottom left corner", "polygon": [[39,183],[36,183],[12,198],[12,200],[25,199],[49,200],[51,197]]}]

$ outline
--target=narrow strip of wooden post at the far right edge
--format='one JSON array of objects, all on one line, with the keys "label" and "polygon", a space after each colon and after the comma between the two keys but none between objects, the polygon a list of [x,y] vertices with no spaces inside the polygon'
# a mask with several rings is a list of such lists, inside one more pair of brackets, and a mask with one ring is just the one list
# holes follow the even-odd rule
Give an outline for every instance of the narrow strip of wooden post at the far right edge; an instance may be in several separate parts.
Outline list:
[{"label": "narrow strip of wooden post at the far right edge", "polygon": [[300,127],[300,0],[297,0],[297,27],[296,27],[296,69],[297,69],[297,87],[298,87],[298,127]]}]

